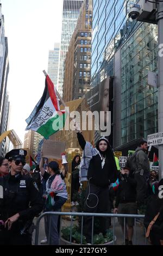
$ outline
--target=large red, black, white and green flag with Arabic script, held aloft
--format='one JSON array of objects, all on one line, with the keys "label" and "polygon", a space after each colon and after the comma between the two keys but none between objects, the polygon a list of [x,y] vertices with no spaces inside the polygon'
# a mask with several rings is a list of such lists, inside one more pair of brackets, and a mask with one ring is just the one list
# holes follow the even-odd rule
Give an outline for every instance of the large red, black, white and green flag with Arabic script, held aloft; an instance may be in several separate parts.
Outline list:
[{"label": "large red, black, white and green flag with Arabic script, held aloft", "polygon": [[54,84],[47,75],[43,95],[26,119],[28,124],[26,131],[33,130],[48,139],[49,136],[64,127],[65,119],[65,111],[60,111]]}]

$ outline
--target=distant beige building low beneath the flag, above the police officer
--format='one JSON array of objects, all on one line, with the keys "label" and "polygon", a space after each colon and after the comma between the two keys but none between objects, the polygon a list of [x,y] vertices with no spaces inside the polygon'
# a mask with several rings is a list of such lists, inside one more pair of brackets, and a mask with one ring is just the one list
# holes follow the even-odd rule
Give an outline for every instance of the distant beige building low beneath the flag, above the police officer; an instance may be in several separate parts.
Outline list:
[{"label": "distant beige building low beneath the flag, above the police officer", "polygon": [[29,130],[27,133],[24,135],[24,148],[29,148],[30,155],[34,158],[35,155],[37,154],[37,149],[39,142],[41,141],[43,137],[32,130]]}]

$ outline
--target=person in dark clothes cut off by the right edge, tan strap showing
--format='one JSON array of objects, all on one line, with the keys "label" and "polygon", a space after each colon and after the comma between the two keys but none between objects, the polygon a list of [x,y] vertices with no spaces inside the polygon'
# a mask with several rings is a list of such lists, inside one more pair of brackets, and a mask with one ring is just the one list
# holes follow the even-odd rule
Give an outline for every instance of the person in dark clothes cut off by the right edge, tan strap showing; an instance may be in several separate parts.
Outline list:
[{"label": "person in dark clothes cut off by the right edge, tan strap showing", "polygon": [[147,229],[146,236],[152,245],[163,245],[163,191],[159,187],[163,179],[153,185],[153,196],[148,202],[144,224]]}]

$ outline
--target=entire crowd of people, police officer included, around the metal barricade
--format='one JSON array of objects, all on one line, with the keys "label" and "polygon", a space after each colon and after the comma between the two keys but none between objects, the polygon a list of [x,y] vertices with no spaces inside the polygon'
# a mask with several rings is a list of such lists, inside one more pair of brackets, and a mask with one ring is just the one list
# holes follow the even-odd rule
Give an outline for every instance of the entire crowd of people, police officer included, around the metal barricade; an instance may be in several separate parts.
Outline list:
[{"label": "entire crowd of people, police officer included, around the metal barricade", "polygon": [[[90,142],[85,141],[77,125],[76,132],[83,156],[80,160],[80,155],[77,154],[72,160],[71,205],[77,204],[73,202],[74,194],[79,192],[81,182],[87,180],[84,212],[108,214],[112,211],[114,214],[135,215],[140,214],[142,206],[146,206],[144,223],[148,237],[152,244],[160,245],[163,240],[163,203],[158,198],[158,187],[163,182],[158,181],[158,173],[154,170],[150,172],[147,142],[142,139],[135,150],[133,162],[136,167],[133,169],[133,164],[130,166],[128,161],[126,167],[120,169],[107,138],[99,138],[96,147],[93,148]],[[5,157],[0,157],[0,185],[3,187],[0,199],[0,230],[3,237],[1,245],[30,245],[34,216],[39,216],[42,209],[44,212],[61,211],[61,206],[68,198],[64,181],[66,172],[60,171],[58,163],[44,162],[42,157],[40,165],[37,164],[33,170],[25,162],[26,154],[25,150],[11,150]],[[8,193],[4,192],[4,187]],[[10,188],[13,190],[12,193]],[[30,198],[27,188],[31,191]],[[16,193],[17,191],[20,192]],[[20,206],[23,195],[26,199]],[[15,205],[9,210],[10,204],[13,203]],[[46,237],[41,243],[59,244],[58,218],[58,215],[52,216],[49,233],[50,219],[45,217]],[[100,217],[99,221],[101,233],[105,235],[106,230],[111,227],[111,218]],[[134,218],[126,218],[125,227],[123,218],[118,218],[118,221],[123,233],[125,230],[125,245],[133,245]],[[23,235],[20,235],[21,230],[25,230]],[[83,233],[88,245],[91,244],[91,232],[92,218],[85,217]],[[11,239],[13,235],[15,240]]]}]

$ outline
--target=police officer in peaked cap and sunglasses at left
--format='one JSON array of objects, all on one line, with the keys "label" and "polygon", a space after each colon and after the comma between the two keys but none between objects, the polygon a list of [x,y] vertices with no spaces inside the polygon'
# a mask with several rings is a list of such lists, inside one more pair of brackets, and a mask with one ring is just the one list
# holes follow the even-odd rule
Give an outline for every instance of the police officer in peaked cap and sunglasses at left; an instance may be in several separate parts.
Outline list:
[{"label": "police officer in peaked cap and sunglasses at left", "polygon": [[21,174],[26,155],[23,149],[5,155],[10,173],[0,178],[0,245],[31,245],[32,221],[43,209],[36,182]]}]

